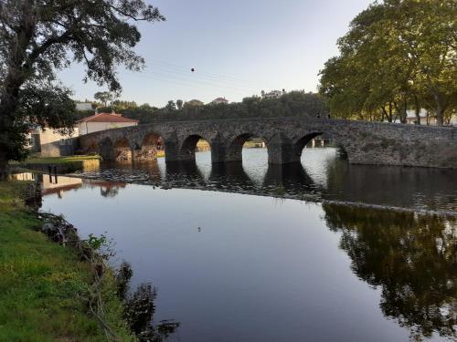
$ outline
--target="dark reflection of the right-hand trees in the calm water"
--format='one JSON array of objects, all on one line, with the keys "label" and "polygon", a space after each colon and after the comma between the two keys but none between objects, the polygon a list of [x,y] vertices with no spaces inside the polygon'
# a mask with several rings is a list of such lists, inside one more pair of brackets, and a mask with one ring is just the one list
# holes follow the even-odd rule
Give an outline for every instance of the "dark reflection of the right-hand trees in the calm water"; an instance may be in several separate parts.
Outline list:
[{"label": "dark reflection of the right-hand trees in the calm water", "polygon": [[381,286],[380,307],[412,339],[457,338],[457,220],[324,205],[353,272]]}]

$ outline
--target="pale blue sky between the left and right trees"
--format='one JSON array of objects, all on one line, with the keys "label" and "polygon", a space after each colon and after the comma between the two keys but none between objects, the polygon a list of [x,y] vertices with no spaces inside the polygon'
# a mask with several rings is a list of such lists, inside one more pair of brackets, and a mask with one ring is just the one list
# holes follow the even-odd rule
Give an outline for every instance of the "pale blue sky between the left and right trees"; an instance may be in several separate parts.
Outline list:
[{"label": "pale blue sky between the left and right trees", "polygon": [[[170,99],[240,101],[261,90],[316,91],[336,40],[372,0],[147,0],[165,22],[141,23],[134,47],[145,68],[119,67],[122,100],[163,107]],[[191,68],[195,68],[192,72]],[[59,72],[73,98],[93,99],[84,67]]]}]

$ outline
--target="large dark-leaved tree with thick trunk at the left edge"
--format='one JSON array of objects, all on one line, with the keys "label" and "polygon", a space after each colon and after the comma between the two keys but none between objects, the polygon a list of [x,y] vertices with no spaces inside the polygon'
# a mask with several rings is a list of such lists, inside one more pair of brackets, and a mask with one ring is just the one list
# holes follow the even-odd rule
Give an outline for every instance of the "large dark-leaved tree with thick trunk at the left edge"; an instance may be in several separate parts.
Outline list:
[{"label": "large dark-leaved tree with thick trunk at the left edge", "polygon": [[[69,91],[56,81],[56,70],[82,63],[84,81],[120,91],[116,67],[143,67],[143,58],[133,52],[141,38],[134,23],[162,20],[158,9],[143,0],[1,0],[0,173],[5,173],[7,161],[25,157],[29,125],[71,128],[66,113],[48,114],[58,105],[51,94],[60,104],[69,102]],[[22,107],[27,94],[37,99],[39,114]]]}]

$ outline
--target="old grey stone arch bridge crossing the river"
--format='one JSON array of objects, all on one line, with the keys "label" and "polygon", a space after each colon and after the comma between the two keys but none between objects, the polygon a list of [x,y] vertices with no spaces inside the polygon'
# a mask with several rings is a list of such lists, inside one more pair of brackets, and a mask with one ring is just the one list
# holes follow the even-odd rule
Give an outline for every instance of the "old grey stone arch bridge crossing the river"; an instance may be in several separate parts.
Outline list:
[{"label": "old grey stone arch bridge crossing the river", "polygon": [[[265,141],[271,164],[299,162],[304,146],[324,135],[351,163],[457,169],[457,128],[344,119],[269,118],[161,122],[78,137],[80,149],[104,160],[155,158],[163,141],[165,161],[195,161],[197,141],[207,140],[213,163],[241,161],[243,143]],[[378,181],[378,180],[374,180]]]}]

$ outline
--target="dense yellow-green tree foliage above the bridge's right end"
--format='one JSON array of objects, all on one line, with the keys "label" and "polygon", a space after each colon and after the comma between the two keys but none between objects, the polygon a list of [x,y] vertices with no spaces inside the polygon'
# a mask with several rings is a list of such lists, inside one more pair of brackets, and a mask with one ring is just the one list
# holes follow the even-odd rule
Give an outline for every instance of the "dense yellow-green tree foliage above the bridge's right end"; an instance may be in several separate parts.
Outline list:
[{"label": "dense yellow-green tree foliage above the bridge's right end", "polygon": [[457,4],[452,0],[375,2],[338,40],[340,55],[320,72],[332,114],[406,122],[428,109],[442,125],[457,108]]}]

